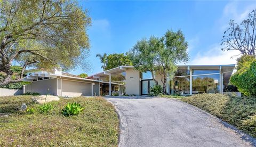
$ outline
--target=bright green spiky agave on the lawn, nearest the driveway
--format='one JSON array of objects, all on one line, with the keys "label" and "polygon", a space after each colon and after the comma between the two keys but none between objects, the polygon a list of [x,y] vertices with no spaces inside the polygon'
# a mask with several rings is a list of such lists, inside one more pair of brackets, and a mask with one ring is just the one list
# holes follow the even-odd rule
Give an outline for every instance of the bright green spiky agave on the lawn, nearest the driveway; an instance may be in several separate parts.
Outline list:
[{"label": "bright green spiky agave on the lawn, nearest the driveway", "polygon": [[62,110],[62,114],[64,116],[73,116],[73,115],[78,115],[84,110],[83,107],[79,103],[68,103],[65,105],[65,108]]}]

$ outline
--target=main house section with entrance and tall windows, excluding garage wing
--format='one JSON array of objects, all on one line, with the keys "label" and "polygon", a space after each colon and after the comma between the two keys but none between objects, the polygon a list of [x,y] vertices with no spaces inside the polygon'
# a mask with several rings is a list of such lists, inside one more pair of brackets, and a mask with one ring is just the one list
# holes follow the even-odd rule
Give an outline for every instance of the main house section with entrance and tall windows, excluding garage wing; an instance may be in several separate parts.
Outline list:
[{"label": "main house section with entrance and tall windows, excluding garage wing", "polygon": [[[169,94],[191,95],[199,93],[220,93],[223,94],[223,88],[228,85],[229,78],[234,70],[235,64],[229,65],[182,65],[178,66],[175,76],[167,79],[166,92]],[[109,83],[106,95],[111,95],[116,85],[125,82],[125,94],[148,95],[150,87],[155,85],[149,71],[140,73],[133,66],[121,66],[109,69],[98,74],[86,77],[87,79],[102,80],[111,79],[111,76],[123,75],[122,81],[105,81]],[[156,80],[162,85],[161,76],[156,74]],[[100,93],[106,89],[100,84]],[[106,93],[106,91],[105,91]]]}]

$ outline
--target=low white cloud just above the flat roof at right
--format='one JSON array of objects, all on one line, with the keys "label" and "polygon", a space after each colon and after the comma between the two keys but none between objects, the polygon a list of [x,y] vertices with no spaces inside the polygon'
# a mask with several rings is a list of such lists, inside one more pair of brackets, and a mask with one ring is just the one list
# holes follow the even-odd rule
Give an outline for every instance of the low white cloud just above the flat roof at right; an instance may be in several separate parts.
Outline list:
[{"label": "low white cloud just above the flat roof at right", "polygon": [[213,45],[207,52],[198,52],[188,64],[235,64],[239,51],[222,51],[221,45]]}]

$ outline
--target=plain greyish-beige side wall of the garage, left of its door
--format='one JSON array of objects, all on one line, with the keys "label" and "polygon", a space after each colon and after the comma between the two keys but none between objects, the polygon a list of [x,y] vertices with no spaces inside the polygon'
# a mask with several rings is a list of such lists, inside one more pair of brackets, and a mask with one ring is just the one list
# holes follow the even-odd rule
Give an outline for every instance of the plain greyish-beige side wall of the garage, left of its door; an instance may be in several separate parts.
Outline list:
[{"label": "plain greyish-beige side wall of the garage, left of its door", "polygon": [[27,92],[37,92],[41,95],[57,95],[57,79],[33,81],[31,84],[25,86],[25,93]]}]

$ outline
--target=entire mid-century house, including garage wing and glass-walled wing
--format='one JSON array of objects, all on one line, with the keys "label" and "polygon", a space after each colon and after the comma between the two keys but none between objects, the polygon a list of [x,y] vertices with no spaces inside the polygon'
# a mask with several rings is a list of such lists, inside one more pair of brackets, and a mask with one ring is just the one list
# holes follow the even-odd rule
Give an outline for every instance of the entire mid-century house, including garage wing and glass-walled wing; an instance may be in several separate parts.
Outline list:
[{"label": "entire mid-century house, including garage wing and glass-walled wing", "polygon": [[[169,94],[192,95],[200,93],[220,93],[229,84],[235,64],[229,65],[181,65],[172,79],[168,78],[166,91]],[[161,76],[156,75],[159,85]],[[58,96],[92,95],[148,95],[155,82],[149,71],[139,72],[133,66],[120,66],[86,78],[79,78],[55,70],[28,72],[25,92],[51,93]],[[49,91],[47,91],[49,88]]]}]

